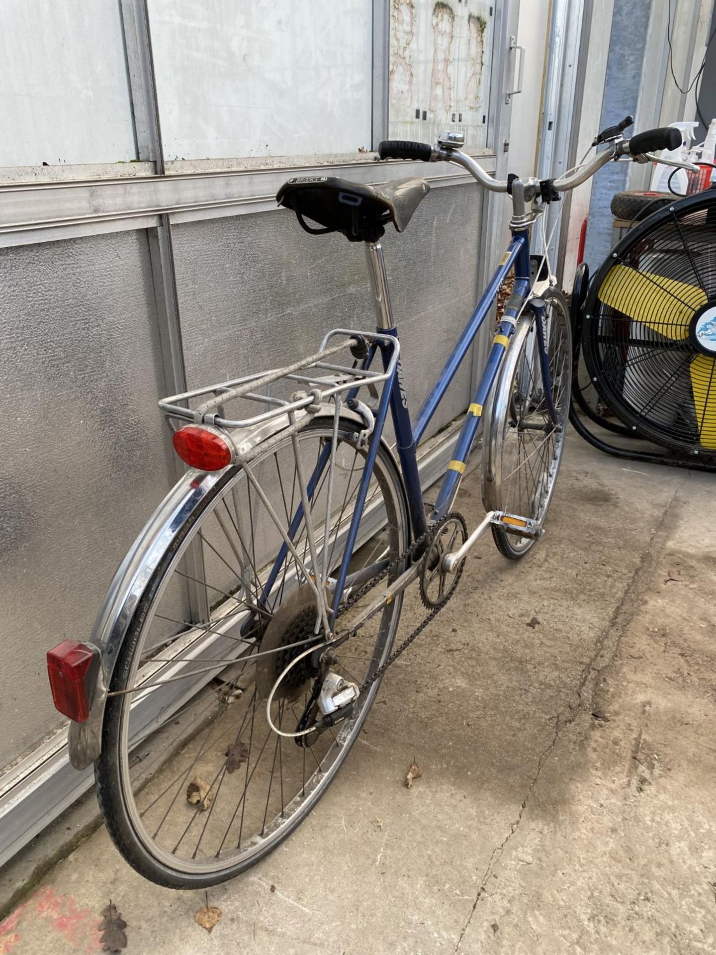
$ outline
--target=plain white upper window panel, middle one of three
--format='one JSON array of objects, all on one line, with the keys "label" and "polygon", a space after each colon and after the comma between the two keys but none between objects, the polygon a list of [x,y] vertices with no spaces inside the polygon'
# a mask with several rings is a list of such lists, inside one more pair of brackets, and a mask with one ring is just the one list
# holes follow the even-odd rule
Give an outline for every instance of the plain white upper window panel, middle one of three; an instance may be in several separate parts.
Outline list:
[{"label": "plain white upper window panel, middle one of three", "polygon": [[370,148],[372,0],[149,0],[166,159]]}]

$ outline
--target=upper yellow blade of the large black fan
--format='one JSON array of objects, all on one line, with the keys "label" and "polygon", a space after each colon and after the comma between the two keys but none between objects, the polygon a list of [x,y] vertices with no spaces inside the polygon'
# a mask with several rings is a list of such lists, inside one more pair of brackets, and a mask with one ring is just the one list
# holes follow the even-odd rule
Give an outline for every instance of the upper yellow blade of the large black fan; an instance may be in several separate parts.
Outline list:
[{"label": "upper yellow blade of the large black fan", "polygon": [[689,322],[696,309],[705,304],[706,295],[699,286],[615,265],[601,283],[600,300],[660,335],[679,341],[688,336]]}]

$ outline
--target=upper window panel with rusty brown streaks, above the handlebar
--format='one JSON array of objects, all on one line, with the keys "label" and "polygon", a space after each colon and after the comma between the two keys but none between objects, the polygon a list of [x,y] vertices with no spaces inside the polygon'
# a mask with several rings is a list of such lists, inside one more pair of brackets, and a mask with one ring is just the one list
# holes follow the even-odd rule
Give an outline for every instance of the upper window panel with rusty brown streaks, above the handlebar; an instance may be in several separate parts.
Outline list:
[{"label": "upper window panel with rusty brown streaks, above the handlebar", "polygon": [[[491,12],[491,10],[493,12]],[[390,137],[487,145],[495,0],[391,0]]]}]

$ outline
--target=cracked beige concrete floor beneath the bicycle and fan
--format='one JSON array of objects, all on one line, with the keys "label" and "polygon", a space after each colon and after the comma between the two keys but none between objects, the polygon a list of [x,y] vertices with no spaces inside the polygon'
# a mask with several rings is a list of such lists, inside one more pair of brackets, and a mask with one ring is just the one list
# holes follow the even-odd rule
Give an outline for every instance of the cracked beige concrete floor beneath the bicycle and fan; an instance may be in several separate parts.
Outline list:
[{"label": "cracked beige concrete floor beneath the bicycle and fan", "polygon": [[[208,893],[211,935],[203,892],[142,881],[100,829],[1,955],[98,950],[110,899],[152,955],[714,952],[713,487],[572,435],[544,540],[516,565],[477,544],[317,810]],[[477,474],[459,506],[474,524]]]}]

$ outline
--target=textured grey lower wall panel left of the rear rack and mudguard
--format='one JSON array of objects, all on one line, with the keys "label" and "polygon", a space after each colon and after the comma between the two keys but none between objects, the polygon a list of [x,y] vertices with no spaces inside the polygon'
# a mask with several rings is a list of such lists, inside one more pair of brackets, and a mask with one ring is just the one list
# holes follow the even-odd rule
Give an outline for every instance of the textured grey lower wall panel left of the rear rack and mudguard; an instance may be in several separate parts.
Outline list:
[{"label": "textured grey lower wall panel left of the rear rack and mudguard", "polygon": [[0,249],[0,766],[58,723],[45,651],[83,638],[173,480],[146,234]]}]

